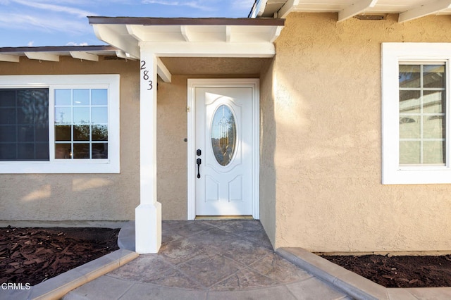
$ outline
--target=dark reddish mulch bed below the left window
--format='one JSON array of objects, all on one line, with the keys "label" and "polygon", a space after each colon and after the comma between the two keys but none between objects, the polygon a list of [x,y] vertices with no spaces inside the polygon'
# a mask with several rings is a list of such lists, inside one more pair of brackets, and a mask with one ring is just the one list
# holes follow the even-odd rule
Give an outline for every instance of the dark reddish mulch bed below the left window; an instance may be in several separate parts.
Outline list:
[{"label": "dark reddish mulch bed below the left window", "polygon": [[0,228],[0,284],[37,285],[118,248],[119,229]]}]

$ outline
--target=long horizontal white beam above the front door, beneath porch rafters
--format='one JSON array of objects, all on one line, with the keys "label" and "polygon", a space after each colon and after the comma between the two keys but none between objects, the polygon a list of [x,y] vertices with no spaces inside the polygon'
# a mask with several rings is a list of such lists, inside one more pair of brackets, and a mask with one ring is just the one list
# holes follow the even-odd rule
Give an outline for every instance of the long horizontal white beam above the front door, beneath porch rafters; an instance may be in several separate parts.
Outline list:
[{"label": "long horizontal white beam above the front door, beneath porch rafters", "polygon": [[[180,51],[183,49],[183,51]],[[276,54],[271,42],[256,43],[152,43],[152,50],[163,57],[273,57]]]}]

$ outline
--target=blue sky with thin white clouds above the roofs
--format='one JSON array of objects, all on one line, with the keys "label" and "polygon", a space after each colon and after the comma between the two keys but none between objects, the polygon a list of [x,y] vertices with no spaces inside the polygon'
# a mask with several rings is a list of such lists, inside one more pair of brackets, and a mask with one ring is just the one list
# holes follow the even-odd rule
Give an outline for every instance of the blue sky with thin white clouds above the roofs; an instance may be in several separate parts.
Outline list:
[{"label": "blue sky with thin white clouds above the roofs", "polygon": [[254,0],[0,0],[0,47],[101,45],[87,15],[247,18]]}]

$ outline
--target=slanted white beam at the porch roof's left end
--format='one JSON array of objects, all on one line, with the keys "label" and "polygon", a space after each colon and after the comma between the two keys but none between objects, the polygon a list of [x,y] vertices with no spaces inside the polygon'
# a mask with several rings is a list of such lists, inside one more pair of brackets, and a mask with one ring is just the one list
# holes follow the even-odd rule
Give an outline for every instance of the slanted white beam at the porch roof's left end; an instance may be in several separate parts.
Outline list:
[{"label": "slanted white beam at the porch roof's left end", "polygon": [[136,39],[125,39],[123,36],[119,35],[118,32],[114,32],[105,25],[94,24],[92,27],[96,37],[101,41],[121,49],[125,53],[130,54],[132,58],[140,58],[140,46]]}]

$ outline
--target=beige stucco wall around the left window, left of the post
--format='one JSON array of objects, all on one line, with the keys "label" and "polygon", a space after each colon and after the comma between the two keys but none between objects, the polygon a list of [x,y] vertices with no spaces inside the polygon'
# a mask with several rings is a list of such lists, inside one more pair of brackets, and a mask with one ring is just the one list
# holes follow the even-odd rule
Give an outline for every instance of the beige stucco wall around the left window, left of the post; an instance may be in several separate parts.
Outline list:
[{"label": "beige stucco wall around the left window, left of the post", "polygon": [[133,220],[139,204],[137,61],[0,62],[0,75],[120,74],[121,174],[0,175],[0,220]]}]

